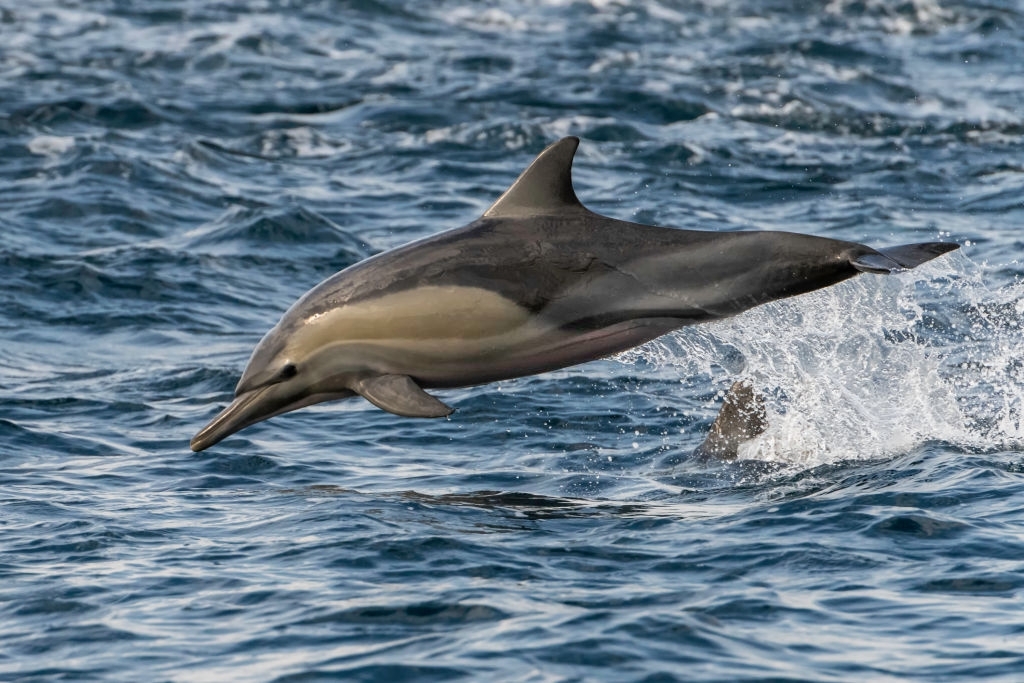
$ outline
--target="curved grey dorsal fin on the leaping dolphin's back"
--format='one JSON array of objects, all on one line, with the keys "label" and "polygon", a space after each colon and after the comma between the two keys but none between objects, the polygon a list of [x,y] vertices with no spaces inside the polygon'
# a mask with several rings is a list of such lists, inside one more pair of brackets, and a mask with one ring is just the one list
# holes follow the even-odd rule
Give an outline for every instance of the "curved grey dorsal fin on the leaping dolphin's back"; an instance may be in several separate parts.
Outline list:
[{"label": "curved grey dorsal fin on the leaping dolphin's back", "polygon": [[549,145],[483,217],[525,218],[586,211],[572,190],[572,156],[578,146],[579,137],[563,137]]}]

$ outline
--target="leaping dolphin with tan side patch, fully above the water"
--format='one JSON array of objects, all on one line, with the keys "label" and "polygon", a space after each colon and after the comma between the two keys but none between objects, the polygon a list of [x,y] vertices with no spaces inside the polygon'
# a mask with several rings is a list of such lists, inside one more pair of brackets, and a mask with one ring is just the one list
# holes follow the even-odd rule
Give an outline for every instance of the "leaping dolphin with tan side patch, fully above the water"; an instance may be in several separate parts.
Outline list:
[{"label": "leaping dolphin with tan side patch, fully above the water", "polygon": [[303,295],[256,345],[234,399],[196,434],[193,451],[356,394],[395,415],[444,417],[453,409],[424,389],[593,360],[958,246],[872,249],[608,218],[572,188],[579,144],[565,137],[548,146],[472,223],[368,258]]}]

